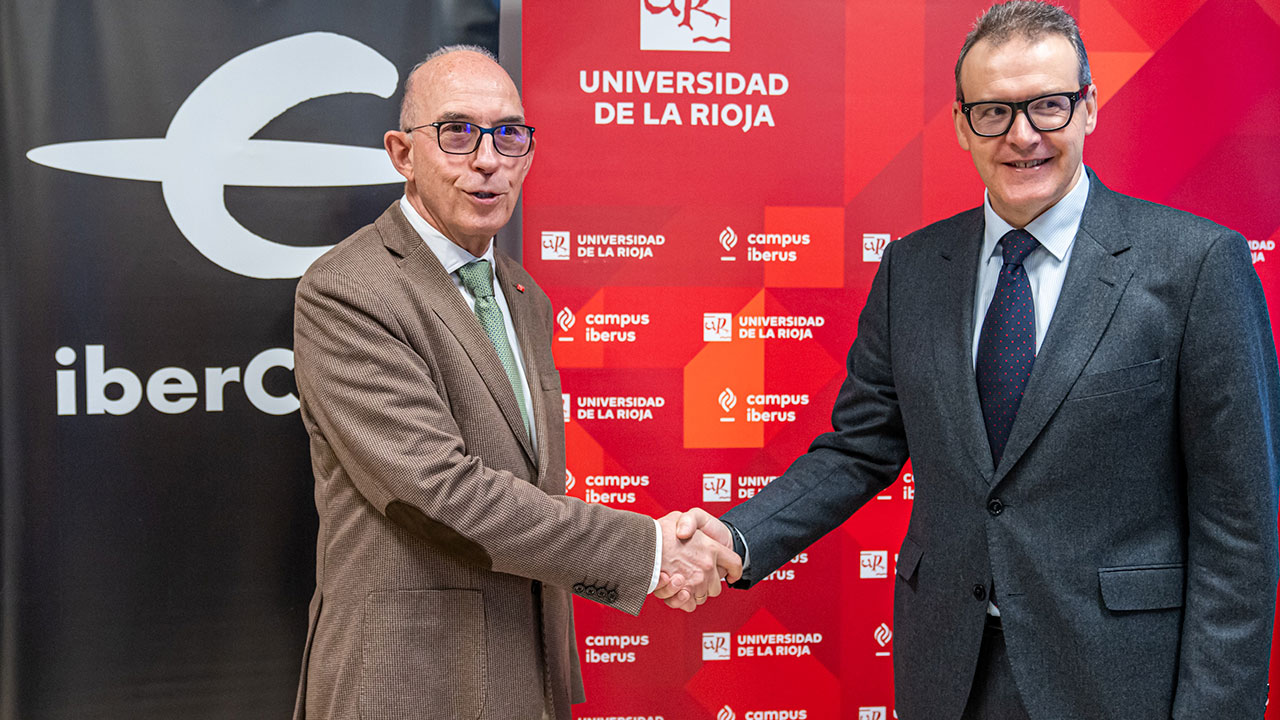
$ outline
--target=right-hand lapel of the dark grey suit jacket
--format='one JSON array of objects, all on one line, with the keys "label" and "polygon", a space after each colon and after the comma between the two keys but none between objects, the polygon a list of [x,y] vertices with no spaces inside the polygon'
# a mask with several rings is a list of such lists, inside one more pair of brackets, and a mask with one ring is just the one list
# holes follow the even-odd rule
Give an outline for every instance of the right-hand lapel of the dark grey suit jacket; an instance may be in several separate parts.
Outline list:
[{"label": "right-hand lapel of the dark grey suit jacket", "polygon": [[1115,193],[1092,173],[1089,181],[1089,200],[1075,236],[1062,293],[1036,355],[1018,418],[996,469],[996,482],[1009,474],[1066,398],[1133,277],[1133,268],[1121,258],[1130,243],[1123,229],[1124,219],[1116,211]]}]

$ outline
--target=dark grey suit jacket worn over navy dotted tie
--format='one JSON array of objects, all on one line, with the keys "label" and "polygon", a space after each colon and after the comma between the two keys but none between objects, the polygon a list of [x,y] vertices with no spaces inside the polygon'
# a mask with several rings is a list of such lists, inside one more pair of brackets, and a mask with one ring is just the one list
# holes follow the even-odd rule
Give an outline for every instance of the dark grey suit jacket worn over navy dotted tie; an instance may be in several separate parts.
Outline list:
[{"label": "dark grey suit jacket worn over navy dotted tie", "polygon": [[1034,720],[1262,717],[1280,379],[1244,240],[1092,177],[1000,466],[974,383],[982,209],[891,243],[831,433],[724,519],[750,584],[893,482],[905,720],[960,716],[995,582]]}]

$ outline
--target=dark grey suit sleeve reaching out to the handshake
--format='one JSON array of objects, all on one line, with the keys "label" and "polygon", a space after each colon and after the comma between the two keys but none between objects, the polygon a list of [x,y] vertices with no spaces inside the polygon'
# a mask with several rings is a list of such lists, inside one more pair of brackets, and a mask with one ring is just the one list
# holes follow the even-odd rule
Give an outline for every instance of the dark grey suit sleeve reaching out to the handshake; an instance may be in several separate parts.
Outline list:
[{"label": "dark grey suit sleeve reaching out to the handshake", "polygon": [[893,250],[895,243],[886,246],[858,318],[847,374],[831,411],[831,432],[818,436],[763,491],[724,514],[751,548],[751,566],[733,587],[760,582],[836,529],[896,480],[906,462],[890,348]]}]

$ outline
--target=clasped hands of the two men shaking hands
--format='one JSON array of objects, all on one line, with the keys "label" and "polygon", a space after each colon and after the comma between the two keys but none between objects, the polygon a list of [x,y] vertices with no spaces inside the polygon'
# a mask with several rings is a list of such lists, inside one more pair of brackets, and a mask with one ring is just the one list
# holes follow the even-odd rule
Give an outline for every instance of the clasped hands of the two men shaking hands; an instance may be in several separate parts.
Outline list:
[{"label": "clasped hands of the two men shaking hands", "polygon": [[727,525],[700,507],[669,512],[662,525],[662,568],[653,594],[669,607],[692,612],[721,593],[721,580],[742,577]]}]

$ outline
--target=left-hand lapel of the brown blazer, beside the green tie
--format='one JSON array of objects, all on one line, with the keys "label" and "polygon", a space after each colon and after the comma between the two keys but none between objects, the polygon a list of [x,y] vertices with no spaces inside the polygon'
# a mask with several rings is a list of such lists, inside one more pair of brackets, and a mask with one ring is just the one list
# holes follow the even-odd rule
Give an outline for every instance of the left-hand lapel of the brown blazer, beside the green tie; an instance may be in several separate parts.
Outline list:
[{"label": "left-hand lapel of the brown blazer, beside the green tie", "polygon": [[[422,242],[417,231],[413,229],[413,225],[401,213],[398,202],[379,218],[378,225],[383,234],[383,243],[403,258],[401,266],[417,287],[421,287],[429,296],[431,310],[449,328],[458,345],[462,346],[462,351],[466,352],[480,379],[484,380],[489,393],[502,410],[502,416],[511,427],[512,434],[516,436],[521,447],[525,448],[525,455],[536,462],[538,459],[534,455],[532,441],[529,438],[529,430],[525,429],[525,420],[520,416],[520,405],[516,402],[516,393],[511,387],[511,380],[507,379],[507,370],[503,369],[502,360],[498,359],[498,351],[493,348],[493,341],[485,334],[480,320],[471,307],[467,306],[467,301],[462,299],[462,293],[458,292],[457,286],[453,284],[453,278],[444,272],[444,265],[440,265],[435,254]],[[503,292],[507,292],[506,287],[503,287]],[[508,301],[511,300],[511,293],[507,295],[507,299]],[[512,322],[515,323],[515,319]],[[526,346],[524,337],[521,337],[520,342],[522,347]],[[522,357],[527,363],[527,354],[522,355]],[[531,373],[526,373],[526,375],[531,375]],[[534,392],[530,392],[530,395],[536,397]]]}]

